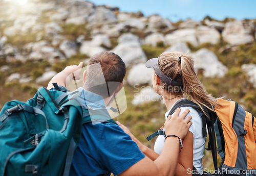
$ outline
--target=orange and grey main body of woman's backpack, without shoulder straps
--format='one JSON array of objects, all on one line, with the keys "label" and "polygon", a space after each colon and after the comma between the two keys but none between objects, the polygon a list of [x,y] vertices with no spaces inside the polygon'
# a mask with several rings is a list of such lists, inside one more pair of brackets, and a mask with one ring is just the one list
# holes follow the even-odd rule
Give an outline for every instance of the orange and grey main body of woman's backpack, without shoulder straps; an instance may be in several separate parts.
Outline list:
[{"label": "orange and grey main body of woman's backpack, without shoulder straps", "polygon": [[256,175],[256,119],[233,100],[219,99],[215,132],[220,169],[234,175]]}]

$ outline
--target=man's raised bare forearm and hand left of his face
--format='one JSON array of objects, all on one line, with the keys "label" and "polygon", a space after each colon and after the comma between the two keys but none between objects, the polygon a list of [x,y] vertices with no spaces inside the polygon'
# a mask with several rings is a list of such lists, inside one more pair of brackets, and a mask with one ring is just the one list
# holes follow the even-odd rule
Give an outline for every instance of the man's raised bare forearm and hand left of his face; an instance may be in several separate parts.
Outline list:
[{"label": "man's raised bare forearm and hand left of his face", "polygon": [[69,87],[70,80],[79,80],[80,72],[83,66],[83,62],[80,62],[79,65],[67,66],[65,69],[57,73],[48,83],[47,89],[54,88],[52,83],[57,83],[58,85]]}]

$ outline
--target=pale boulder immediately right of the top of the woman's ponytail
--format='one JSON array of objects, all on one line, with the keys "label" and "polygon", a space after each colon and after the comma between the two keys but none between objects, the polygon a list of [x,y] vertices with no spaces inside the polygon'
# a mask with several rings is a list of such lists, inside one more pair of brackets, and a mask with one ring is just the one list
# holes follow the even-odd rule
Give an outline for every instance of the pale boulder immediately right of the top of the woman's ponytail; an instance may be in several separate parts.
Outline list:
[{"label": "pale boulder immediately right of the top of the woman's ponytail", "polygon": [[195,70],[203,70],[205,77],[224,77],[228,71],[218,57],[208,49],[199,49],[196,53],[191,54],[195,59]]}]

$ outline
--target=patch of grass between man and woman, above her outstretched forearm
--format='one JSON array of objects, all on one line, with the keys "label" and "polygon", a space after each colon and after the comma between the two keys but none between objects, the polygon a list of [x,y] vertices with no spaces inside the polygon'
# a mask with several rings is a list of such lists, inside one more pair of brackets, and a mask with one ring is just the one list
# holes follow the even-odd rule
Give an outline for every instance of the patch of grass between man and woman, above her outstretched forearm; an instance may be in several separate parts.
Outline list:
[{"label": "patch of grass between man and woman, above her outstretched forearm", "polygon": [[[162,127],[166,107],[161,102],[150,102],[143,105],[132,105],[133,94],[137,89],[124,85],[127,109],[115,120],[120,121],[130,129],[132,134],[144,145],[154,148],[155,139],[147,141],[146,137]],[[154,119],[154,121],[152,120]]]}]

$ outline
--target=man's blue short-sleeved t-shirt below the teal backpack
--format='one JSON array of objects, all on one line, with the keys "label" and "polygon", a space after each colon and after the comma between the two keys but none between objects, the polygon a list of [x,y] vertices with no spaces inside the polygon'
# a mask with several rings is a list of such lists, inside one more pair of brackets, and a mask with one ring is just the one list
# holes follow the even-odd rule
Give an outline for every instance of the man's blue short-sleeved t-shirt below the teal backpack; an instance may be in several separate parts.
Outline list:
[{"label": "man's blue short-sleeved t-shirt below the teal backpack", "polygon": [[117,124],[83,124],[82,137],[75,150],[69,175],[118,175],[145,155]]}]

